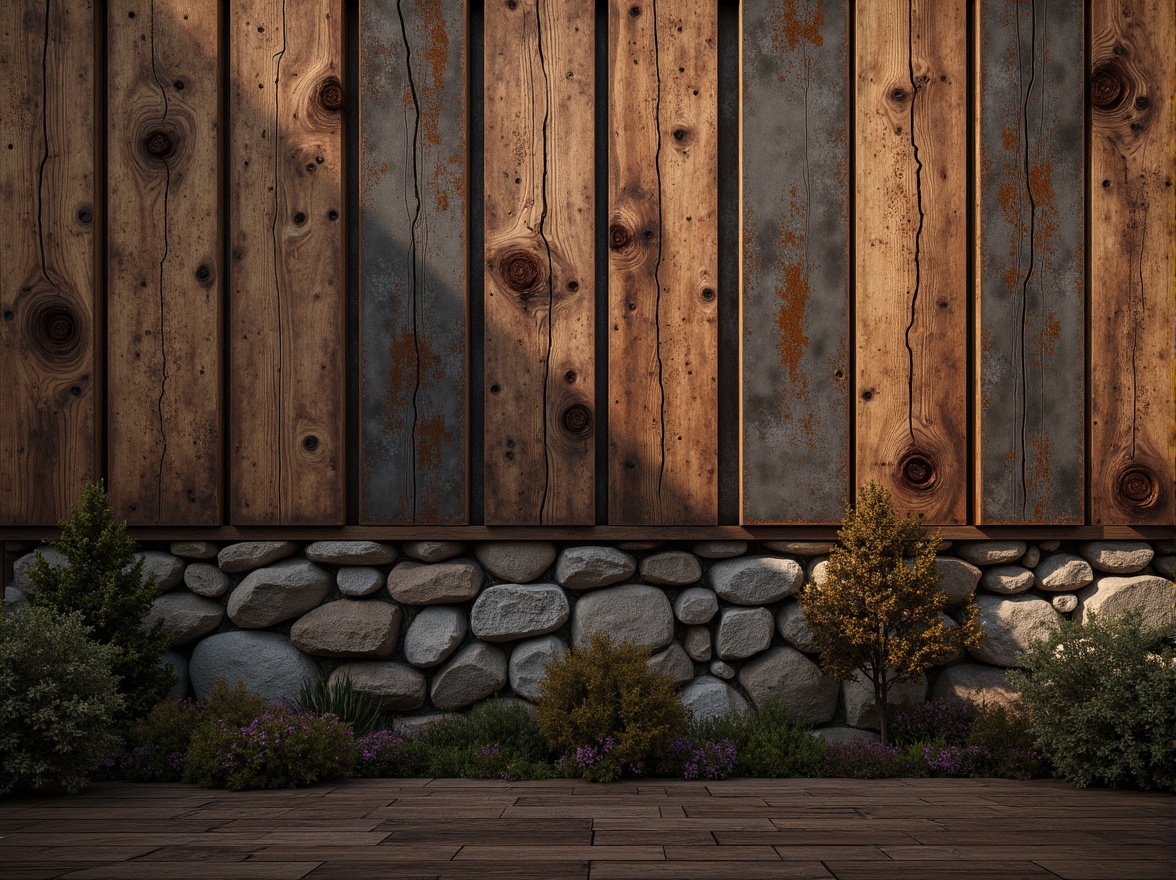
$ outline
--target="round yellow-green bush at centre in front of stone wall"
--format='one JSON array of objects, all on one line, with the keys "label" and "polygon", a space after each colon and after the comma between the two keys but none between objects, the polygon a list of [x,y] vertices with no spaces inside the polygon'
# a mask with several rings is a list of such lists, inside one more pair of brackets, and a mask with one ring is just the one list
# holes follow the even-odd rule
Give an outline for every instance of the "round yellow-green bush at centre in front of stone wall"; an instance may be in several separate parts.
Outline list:
[{"label": "round yellow-green bush at centre in front of stone wall", "polygon": [[594,633],[547,665],[536,718],[552,748],[592,781],[641,773],[666,760],[686,733],[673,680],[647,665],[649,652]]}]

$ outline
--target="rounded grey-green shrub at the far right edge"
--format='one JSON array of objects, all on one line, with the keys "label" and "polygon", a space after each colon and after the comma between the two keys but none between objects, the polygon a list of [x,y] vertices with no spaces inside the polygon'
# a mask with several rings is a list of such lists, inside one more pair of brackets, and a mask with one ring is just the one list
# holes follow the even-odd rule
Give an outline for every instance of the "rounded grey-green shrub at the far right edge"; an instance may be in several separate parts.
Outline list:
[{"label": "rounded grey-green shrub at the far right edge", "polygon": [[1022,693],[1037,747],[1075,786],[1176,791],[1171,752],[1176,668],[1165,633],[1138,613],[1064,621],[1022,656]]}]

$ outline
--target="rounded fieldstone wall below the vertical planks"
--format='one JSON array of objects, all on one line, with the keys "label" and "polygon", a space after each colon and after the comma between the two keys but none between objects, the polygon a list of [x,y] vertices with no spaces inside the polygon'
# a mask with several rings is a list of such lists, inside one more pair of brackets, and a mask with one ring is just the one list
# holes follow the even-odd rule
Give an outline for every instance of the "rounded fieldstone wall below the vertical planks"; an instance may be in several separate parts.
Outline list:
[{"label": "rounded fieldstone wall below the vertical planks", "polygon": [[[779,695],[840,736],[877,718],[868,685],[817,667],[795,599],[830,546],[186,541],[142,555],[161,589],[152,614],[176,633],[176,695],[223,675],[283,699],[347,673],[412,727],[495,694],[534,700],[552,656],[607,629],[648,646],[696,715]],[[32,549],[6,546],[6,609],[25,601]],[[946,542],[938,568],[948,615],[975,593],[988,638],[897,702],[1008,700],[1005,668],[1062,618],[1138,608],[1148,625],[1172,621],[1176,541]]]}]

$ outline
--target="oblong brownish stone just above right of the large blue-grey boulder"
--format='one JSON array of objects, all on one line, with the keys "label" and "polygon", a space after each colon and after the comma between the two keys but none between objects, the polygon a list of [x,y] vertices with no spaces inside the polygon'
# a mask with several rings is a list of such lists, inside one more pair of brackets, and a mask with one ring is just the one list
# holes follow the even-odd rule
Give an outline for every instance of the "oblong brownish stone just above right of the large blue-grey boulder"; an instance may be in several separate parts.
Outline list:
[{"label": "oblong brownish stone just above right of the large blue-grey boulder", "polygon": [[388,658],[400,639],[401,611],[379,599],[336,599],[294,621],[290,641],[312,656]]}]

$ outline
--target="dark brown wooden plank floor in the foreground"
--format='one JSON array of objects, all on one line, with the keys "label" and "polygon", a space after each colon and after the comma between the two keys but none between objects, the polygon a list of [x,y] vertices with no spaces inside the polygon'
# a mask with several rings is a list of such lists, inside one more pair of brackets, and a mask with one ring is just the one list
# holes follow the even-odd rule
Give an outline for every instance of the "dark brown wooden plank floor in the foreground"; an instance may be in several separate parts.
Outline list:
[{"label": "dark brown wooden plank floor in the foreground", "polygon": [[0,800],[0,878],[1172,875],[1172,799],[1002,780],[101,784]]}]

